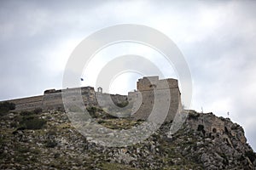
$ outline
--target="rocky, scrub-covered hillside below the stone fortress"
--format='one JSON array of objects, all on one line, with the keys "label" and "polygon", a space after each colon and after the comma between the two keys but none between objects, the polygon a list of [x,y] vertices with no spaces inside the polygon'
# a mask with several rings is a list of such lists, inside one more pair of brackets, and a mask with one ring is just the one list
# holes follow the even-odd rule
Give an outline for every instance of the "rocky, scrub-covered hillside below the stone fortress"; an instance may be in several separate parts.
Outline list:
[{"label": "rocky, scrub-covered hillside below the stone fortress", "polygon": [[[140,122],[106,116],[90,108],[93,120],[113,129]],[[255,169],[256,156],[242,127],[213,114],[189,112],[172,137],[172,122],[142,143],[109,148],[90,143],[63,111],[1,115],[0,169]]]}]

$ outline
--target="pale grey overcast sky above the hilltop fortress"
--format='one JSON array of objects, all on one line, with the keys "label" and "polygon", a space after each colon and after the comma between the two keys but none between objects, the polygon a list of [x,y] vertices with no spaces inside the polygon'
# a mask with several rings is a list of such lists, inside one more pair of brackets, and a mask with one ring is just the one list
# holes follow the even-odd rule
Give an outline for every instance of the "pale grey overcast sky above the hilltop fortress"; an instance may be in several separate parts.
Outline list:
[{"label": "pale grey overcast sky above the hilltop fortress", "polygon": [[[256,150],[255,8],[256,1],[1,1],[0,100],[61,88],[69,55],[94,31],[118,24],[150,26],[170,37],[188,62],[191,109],[224,117],[229,111]],[[84,72],[82,85],[95,86],[89,77],[97,77],[108,63],[104,55],[138,53],[164,65],[157,54],[142,48],[123,44],[102,51]],[[166,77],[176,77],[172,68],[161,67]],[[117,77],[110,92],[136,88],[138,77]]]}]

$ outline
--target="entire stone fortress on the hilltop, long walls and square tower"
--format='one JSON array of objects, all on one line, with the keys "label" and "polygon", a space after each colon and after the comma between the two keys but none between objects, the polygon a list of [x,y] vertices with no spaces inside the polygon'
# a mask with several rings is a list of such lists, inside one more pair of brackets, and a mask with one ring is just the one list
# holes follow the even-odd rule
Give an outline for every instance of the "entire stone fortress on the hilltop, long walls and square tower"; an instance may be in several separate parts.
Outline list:
[{"label": "entire stone fortress on the hilltop, long walls and square tower", "polygon": [[[75,89],[78,88],[65,90]],[[92,87],[82,87],[80,89],[85,106],[109,105],[112,101],[115,105],[133,103],[132,111],[134,111],[134,114],[131,117],[136,120],[146,120],[155,103],[164,104],[168,102],[166,122],[172,121],[177,112],[182,109],[178,82],[172,78],[160,80],[159,77],[143,77],[137,82],[137,90],[129,92],[128,95],[103,94],[102,88],[97,88],[97,91]],[[155,100],[156,98],[158,101]],[[36,108],[42,108],[44,111],[64,110],[61,90],[55,89],[45,90],[44,95],[8,101],[16,105],[15,111],[32,111]]]}]

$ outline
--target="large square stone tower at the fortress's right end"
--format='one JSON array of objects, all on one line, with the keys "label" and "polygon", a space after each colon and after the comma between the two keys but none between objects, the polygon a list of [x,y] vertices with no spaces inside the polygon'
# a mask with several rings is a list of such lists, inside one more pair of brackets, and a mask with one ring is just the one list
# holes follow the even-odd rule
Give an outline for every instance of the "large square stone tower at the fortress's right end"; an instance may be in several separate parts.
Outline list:
[{"label": "large square stone tower at the fortress's right end", "polygon": [[[169,94],[166,93],[166,89],[170,92]],[[159,77],[143,77],[137,82],[137,90],[136,92],[130,92],[128,94],[129,101],[136,101],[140,100],[138,98],[142,98],[140,106],[137,105],[139,108],[137,108],[137,111],[132,115],[136,120],[148,119],[148,116],[153,110],[155,92],[158,92],[157,95],[160,95],[158,97],[160,103],[164,102],[164,100],[165,102],[170,102],[165,122],[171,122],[174,116],[182,110],[181,94],[176,79],[168,78],[159,80]]]}]

